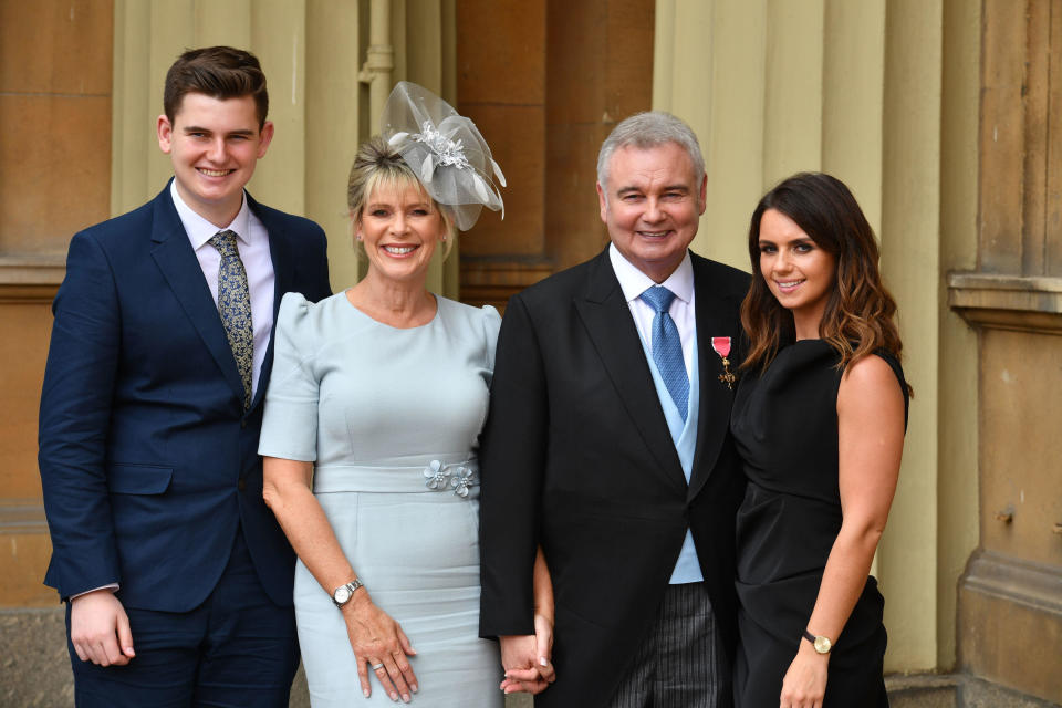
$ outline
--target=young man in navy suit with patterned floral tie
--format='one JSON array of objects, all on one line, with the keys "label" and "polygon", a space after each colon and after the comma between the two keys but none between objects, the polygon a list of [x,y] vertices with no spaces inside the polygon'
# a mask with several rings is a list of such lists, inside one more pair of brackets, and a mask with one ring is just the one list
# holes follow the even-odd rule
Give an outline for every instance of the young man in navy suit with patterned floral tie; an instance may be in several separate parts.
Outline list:
[{"label": "young man in navy suit with patterned floral tie", "polygon": [[170,67],[174,178],[75,235],[40,416],[77,706],[287,706],[294,554],[258,436],[281,296],[330,294],[324,232],[244,191],[273,137],[252,54]]}]

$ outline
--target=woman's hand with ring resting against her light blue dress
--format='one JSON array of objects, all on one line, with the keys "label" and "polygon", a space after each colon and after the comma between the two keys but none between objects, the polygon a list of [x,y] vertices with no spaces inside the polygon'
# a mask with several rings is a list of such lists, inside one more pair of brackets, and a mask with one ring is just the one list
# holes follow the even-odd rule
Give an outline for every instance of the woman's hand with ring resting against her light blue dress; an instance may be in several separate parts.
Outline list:
[{"label": "woman's hand with ring resting against her light blue dress", "polygon": [[362,693],[368,698],[373,689],[368,684],[368,671],[373,666],[383,664],[373,673],[392,700],[409,702],[410,693],[417,693],[417,677],[407,656],[417,652],[409,637],[391,615],[373,604],[367,592],[355,591],[354,600],[343,605],[343,618],[346,621],[346,635],[354,649],[357,677],[362,683]]}]

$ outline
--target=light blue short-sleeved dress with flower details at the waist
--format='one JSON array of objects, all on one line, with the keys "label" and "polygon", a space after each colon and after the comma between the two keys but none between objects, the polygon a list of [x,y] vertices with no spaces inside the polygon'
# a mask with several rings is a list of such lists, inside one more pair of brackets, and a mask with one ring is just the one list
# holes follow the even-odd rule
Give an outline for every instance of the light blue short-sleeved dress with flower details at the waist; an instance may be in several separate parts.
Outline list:
[{"label": "light blue short-sleeved dress with flower details at the waist", "polygon": [[[343,552],[418,653],[413,704],[500,707],[498,645],[478,637],[476,450],[501,317],[436,300],[399,330],[345,293],[284,295],[259,452],[314,462]],[[294,601],[314,708],[394,705],[373,675],[362,695],[340,611],[302,561]]]}]

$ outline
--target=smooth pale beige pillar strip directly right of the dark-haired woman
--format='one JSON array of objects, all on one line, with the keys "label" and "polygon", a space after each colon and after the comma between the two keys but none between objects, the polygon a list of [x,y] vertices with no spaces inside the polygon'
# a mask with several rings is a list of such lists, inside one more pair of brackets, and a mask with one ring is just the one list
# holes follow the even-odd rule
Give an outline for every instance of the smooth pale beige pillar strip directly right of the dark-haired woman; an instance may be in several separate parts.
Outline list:
[{"label": "smooth pale beige pillar strip directly right of the dark-haired woman", "polygon": [[940,278],[938,1],[891,0],[885,23],[882,269],[899,306],[915,387],[904,468],[879,564],[891,652],[886,668],[936,666],[937,365]]}]

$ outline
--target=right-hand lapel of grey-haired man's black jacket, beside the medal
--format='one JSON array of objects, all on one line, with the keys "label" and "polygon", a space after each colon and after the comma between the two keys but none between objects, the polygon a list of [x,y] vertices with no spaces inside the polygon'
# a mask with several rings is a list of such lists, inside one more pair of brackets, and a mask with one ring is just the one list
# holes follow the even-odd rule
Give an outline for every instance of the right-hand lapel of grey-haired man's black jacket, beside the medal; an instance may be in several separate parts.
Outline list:
[{"label": "right-hand lapel of grey-haired man's black jacket, beside the medal", "polygon": [[[697,421],[697,451],[694,454],[694,469],[689,480],[689,499],[704,488],[711,469],[719,457],[722,441],[730,428],[730,408],[733,404],[733,391],[719,381],[722,373],[722,360],[711,346],[711,337],[729,336],[737,344],[740,332],[731,332],[733,324],[720,316],[732,305],[717,298],[704,259],[693,256],[694,289],[697,298],[697,364],[700,367],[700,412]],[[737,364],[731,360],[730,368]]]}]

